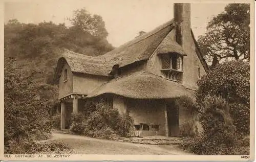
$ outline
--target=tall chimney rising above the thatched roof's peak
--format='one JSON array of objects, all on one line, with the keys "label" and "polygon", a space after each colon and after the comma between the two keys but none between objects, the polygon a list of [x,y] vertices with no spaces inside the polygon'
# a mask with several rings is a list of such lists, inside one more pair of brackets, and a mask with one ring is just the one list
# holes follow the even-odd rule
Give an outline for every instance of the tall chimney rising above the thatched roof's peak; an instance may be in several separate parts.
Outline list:
[{"label": "tall chimney rising above the thatched roof's peak", "polygon": [[174,4],[174,24],[176,29],[176,42],[186,48],[186,38],[190,36],[190,4]]}]

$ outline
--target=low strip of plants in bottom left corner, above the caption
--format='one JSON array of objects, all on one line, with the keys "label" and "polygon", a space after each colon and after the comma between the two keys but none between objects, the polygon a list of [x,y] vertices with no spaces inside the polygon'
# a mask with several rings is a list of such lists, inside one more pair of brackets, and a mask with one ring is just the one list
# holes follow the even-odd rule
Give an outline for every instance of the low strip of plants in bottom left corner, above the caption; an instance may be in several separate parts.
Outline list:
[{"label": "low strip of plants in bottom left corner, above the caption", "polygon": [[70,146],[59,140],[49,140],[46,142],[26,142],[13,143],[6,148],[5,154],[70,154]]}]

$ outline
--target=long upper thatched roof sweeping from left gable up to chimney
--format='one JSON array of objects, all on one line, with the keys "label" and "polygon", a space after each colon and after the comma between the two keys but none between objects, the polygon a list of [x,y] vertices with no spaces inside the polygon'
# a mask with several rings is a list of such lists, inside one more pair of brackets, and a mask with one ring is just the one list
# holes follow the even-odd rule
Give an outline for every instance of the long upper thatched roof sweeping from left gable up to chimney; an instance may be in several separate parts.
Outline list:
[{"label": "long upper thatched roof sweeping from left gable up to chimney", "polygon": [[[122,67],[148,59],[173,28],[173,21],[168,21],[153,31],[136,37],[101,56],[87,56],[63,50],[56,72],[60,72],[58,68],[62,67],[63,62],[67,62],[72,72],[109,76],[112,67],[116,64]],[[55,79],[57,78],[55,76]]]}]

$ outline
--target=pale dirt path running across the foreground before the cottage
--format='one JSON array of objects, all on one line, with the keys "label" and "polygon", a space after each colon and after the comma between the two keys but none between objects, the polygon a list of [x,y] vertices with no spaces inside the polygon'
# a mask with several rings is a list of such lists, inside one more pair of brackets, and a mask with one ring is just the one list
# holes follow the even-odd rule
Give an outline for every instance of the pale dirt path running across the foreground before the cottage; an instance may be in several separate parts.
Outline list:
[{"label": "pale dirt path running across the foreground before the cottage", "polygon": [[175,145],[143,145],[111,140],[100,140],[73,134],[53,133],[52,139],[59,139],[70,145],[76,154],[157,154],[188,155]]}]

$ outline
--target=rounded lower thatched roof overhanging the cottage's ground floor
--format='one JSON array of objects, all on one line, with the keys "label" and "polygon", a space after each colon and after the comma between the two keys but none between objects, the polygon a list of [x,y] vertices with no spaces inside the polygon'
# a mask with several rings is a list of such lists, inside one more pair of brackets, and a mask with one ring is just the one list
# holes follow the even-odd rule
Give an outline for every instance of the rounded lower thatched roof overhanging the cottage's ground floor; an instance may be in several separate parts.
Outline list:
[{"label": "rounded lower thatched roof overhanging the cottage's ground floor", "polygon": [[136,99],[168,99],[189,95],[190,93],[190,90],[174,81],[169,81],[148,72],[136,72],[102,84],[87,97],[115,94]]}]

